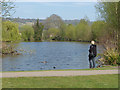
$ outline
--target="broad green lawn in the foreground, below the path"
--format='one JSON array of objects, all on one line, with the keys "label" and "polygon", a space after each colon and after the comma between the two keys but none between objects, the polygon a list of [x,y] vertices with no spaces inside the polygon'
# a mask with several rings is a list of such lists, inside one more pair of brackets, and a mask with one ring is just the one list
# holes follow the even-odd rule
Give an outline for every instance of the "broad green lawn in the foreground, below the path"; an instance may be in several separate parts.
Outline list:
[{"label": "broad green lawn in the foreground, below the path", "polygon": [[118,75],[3,78],[3,88],[118,88]]}]

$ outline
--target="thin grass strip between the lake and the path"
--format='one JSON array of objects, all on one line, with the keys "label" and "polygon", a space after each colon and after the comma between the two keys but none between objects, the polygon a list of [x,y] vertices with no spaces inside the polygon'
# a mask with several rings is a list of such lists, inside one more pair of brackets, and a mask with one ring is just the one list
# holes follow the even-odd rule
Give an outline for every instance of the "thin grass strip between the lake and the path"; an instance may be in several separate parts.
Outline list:
[{"label": "thin grass strip between the lake and the path", "polygon": [[[36,72],[36,71],[81,71],[81,70],[116,70],[118,69],[118,66],[102,66],[99,68],[93,68],[93,69],[55,69],[55,70],[33,70],[29,72]],[[2,71],[4,72],[28,72],[28,71]]]}]

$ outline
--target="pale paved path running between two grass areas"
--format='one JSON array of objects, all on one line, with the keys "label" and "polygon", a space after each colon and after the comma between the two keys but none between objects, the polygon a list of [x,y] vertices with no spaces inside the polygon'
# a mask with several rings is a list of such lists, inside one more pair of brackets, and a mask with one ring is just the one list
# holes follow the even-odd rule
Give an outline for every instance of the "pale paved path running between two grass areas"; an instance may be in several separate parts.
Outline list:
[{"label": "pale paved path running between two grass areas", "polygon": [[[2,77],[46,77],[46,76],[84,76],[101,74],[118,74],[118,70],[81,70],[81,71],[33,71],[3,72]],[[1,78],[1,75],[0,75]]]}]

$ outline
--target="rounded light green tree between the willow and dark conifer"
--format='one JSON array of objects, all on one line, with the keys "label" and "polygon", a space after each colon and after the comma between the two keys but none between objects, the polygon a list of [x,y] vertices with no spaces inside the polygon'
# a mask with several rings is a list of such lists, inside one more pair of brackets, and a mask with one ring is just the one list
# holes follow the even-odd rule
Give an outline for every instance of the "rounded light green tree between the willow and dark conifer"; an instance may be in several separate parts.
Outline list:
[{"label": "rounded light green tree between the willow and dark conifer", "polygon": [[30,25],[23,25],[20,28],[21,38],[24,41],[33,41],[34,40],[34,30]]}]

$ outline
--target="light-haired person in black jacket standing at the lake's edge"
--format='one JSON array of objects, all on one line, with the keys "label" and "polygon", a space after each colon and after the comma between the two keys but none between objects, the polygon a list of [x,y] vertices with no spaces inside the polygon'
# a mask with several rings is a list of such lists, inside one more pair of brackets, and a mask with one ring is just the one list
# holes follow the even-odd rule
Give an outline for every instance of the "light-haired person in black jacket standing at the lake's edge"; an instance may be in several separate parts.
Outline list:
[{"label": "light-haired person in black jacket standing at the lake's edge", "polygon": [[95,41],[91,41],[90,49],[89,49],[89,65],[90,68],[95,68],[95,57],[97,55],[97,46],[95,45]]}]

